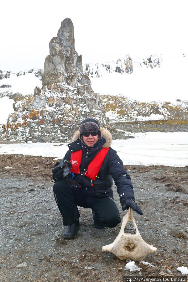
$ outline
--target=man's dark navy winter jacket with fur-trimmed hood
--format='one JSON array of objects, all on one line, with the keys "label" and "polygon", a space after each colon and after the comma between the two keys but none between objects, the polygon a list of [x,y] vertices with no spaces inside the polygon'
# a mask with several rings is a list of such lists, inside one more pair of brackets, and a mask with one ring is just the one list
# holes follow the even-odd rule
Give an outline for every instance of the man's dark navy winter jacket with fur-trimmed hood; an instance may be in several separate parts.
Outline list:
[{"label": "man's dark navy winter jacket with fur-trimmed hood", "polygon": [[[121,198],[130,198],[134,200],[133,185],[131,183],[130,176],[123,166],[122,160],[118,157],[115,150],[110,146],[112,143],[111,133],[105,129],[100,128],[102,132],[102,139],[91,149],[84,145],[79,139],[79,130],[76,131],[72,138],[72,143],[68,144],[69,151],[65,154],[64,159],[70,160],[71,153],[82,149],[81,166],[88,162],[88,158],[91,158],[99,148],[109,148],[108,153],[102,163],[102,166],[97,174],[97,178],[93,180],[93,186],[91,186],[91,179],[85,175],[74,174],[74,179],[81,185],[83,189],[87,190],[87,193],[95,196],[112,196],[112,178],[117,186],[118,194]],[[89,151],[88,151],[89,150]],[[84,167],[87,170],[89,164]]]}]

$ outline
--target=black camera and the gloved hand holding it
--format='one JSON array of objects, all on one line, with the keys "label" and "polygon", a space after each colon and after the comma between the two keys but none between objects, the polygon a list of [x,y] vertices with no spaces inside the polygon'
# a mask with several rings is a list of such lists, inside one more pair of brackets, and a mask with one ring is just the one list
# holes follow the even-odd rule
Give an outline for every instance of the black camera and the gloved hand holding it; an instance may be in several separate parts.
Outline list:
[{"label": "black camera and the gloved hand holding it", "polygon": [[72,167],[72,164],[67,159],[62,159],[60,162],[57,162],[55,168],[52,170],[52,173],[55,179],[60,180],[63,177],[72,178],[72,173],[70,171],[71,167]]}]

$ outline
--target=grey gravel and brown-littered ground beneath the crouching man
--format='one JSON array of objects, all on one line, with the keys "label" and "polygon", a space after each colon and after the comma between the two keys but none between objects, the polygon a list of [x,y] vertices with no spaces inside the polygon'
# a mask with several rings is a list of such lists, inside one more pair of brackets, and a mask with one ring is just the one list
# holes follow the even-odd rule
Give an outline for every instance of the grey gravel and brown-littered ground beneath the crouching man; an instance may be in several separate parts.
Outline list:
[{"label": "grey gravel and brown-littered ground beneath the crouching man", "polygon": [[[144,213],[133,212],[138,230],[145,242],[158,248],[144,259],[153,266],[136,262],[140,272],[128,272],[127,260],[102,252],[103,245],[114,241],[121,224],[94,229],[91,209],[79,208],[77,237],[63,238],[65,227],[50,182],[55,162],[44,157],[0,155],[0,281],[122,281],[122,276],[129,275],[182,275],[177,267],[188,266],[187,167],[125,166]],[[126,212],[115,185],[113,190],[123,218]],[[125,232],[132,229],[128,223]],[[19,264],[22,267],[18,268]]]}]

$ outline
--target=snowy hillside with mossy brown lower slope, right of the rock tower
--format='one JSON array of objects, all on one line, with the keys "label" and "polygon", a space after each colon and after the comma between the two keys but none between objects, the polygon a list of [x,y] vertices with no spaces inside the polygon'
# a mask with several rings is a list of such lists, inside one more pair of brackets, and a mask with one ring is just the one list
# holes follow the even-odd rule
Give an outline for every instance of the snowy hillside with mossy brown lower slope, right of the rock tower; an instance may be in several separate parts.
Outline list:
[{"label": "snowy hillside with mossy brown lower slope, right of the rock tower", "polygon": [[110,121],[187,117],[188,57],[129,58],[84,66]]}]

